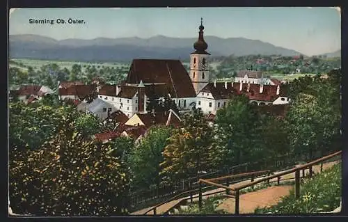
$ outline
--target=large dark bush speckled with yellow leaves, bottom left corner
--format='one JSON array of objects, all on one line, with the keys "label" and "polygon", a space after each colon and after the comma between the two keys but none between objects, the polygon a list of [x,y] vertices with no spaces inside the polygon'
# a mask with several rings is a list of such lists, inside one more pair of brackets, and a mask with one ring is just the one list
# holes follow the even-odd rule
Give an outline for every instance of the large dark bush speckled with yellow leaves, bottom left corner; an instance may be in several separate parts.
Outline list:
[{"label": "large dark bush speckled with yellow leaves, bottom left corner", "polygon": [[86,141],[74,132],[73,114],[42,149],[10,153],[10,207],[35,216],[126,214],[127,168],[111,145]]}]

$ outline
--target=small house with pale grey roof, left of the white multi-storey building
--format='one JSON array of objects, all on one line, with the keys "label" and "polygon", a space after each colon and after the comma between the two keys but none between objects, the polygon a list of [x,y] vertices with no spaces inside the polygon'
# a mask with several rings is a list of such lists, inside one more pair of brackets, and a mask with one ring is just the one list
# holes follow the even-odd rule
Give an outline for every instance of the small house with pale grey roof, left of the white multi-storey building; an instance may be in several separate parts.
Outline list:
[{"label": "small house with pale grey roof, left of the white multi-storey building", "polygon": [[105,102],[100,98],[95,99],[86,106],[86,113],[92,113],[93,115],[97,116],[97,118],[100,118],[100,120],[105,120],[110,113],[113,113],[116,110],[118,109],[116,109],[113,104]]}]

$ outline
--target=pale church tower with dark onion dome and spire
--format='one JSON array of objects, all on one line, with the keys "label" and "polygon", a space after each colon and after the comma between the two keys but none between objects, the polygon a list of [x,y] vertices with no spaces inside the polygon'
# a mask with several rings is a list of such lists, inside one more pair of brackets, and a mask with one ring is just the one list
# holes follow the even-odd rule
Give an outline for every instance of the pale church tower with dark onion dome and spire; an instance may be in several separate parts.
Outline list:
[{"label": "pale church tower with dark onion dome and spire", "polygon": [[199,35],[198,40],[193,44],[193,51],[190,55],[190,78],[193,84],[193,88],[196,90],[196,94],[200,92],[209,83],[209,53],[207,50],[208,45],[203,38],[203,19],[200,18]]}]

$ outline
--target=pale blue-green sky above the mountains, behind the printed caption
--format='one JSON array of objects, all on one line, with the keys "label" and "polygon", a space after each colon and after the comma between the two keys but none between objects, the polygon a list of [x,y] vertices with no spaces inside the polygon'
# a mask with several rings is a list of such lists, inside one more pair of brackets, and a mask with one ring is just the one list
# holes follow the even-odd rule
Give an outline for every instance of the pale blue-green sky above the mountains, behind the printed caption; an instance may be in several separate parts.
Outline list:
[{"label": "pale blue-green sky above the mountains, behind the printed caption", "polygon": [[[294,49],[307,56],[337,51],[340,13],[333,7],[283,8],[20,8],[11,9],[9,34],[67,38],[196,38],[200,17],[205,35],[248,38]],[[56,19],[84,24],[56,24]],[[29,24],[53,19],[55,24]],[[209,42],[208,42],[209,44]]]}]

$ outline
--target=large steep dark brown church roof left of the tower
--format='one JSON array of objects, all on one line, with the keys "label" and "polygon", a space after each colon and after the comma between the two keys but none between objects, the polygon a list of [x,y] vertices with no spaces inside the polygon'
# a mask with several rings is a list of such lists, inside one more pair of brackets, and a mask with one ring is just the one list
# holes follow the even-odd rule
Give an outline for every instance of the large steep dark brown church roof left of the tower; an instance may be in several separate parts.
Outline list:
[{"label": "large steep dark brown church roof left of the tower", "polygon": [[128,84],[166,84],[171,97],[196,97],[189,74],[178,60],[134,59]]}]

